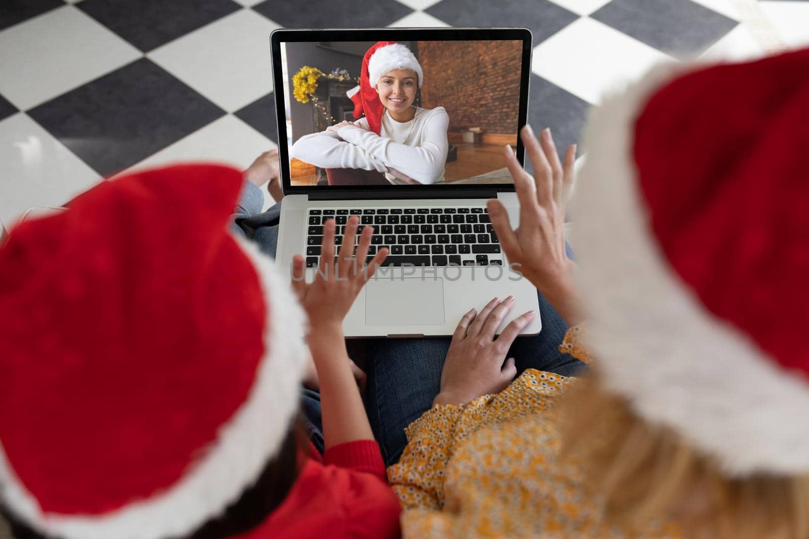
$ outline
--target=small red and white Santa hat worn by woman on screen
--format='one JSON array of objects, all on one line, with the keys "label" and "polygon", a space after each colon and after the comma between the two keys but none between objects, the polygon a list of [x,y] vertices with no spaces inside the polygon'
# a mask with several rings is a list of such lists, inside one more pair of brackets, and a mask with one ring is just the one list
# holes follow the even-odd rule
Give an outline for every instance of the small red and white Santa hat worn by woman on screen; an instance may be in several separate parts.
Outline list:
[{"label": "small red and white Santa hat worn by woman on screen", "polygon": [[382,127],[382,113],[385,110],[375,86],[379,78],[394,69],[413,69],[418,79],[418,87],[424,82],[424,73],[418,60],[406,45],[395,41],[378,41],[362,57],[359,85],[345,92],[354,102],[354,118],[365,114],[368,127],[379,135]]}]

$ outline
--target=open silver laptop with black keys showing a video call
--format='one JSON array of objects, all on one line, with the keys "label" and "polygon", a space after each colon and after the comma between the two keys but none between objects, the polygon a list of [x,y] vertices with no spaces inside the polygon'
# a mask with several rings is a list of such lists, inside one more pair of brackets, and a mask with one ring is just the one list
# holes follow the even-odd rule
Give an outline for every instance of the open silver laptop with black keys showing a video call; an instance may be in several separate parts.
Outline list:
[{"label": "open silver laptop with black keys showing a video call", "polygon": [[523,162],[531,32],[278,29],[270,43],[284,191],[277,263],[291,277],[302,254],[313,280],[324,222],[336,221],[341,242],[355,215],[374,227],[371,255],[389,250],[345,335],[452,335],[493,297],[515,297],[498,333],[538,313],[536,288],[502,252],[486,209],[497,198],[519,223],[503,148]]}]

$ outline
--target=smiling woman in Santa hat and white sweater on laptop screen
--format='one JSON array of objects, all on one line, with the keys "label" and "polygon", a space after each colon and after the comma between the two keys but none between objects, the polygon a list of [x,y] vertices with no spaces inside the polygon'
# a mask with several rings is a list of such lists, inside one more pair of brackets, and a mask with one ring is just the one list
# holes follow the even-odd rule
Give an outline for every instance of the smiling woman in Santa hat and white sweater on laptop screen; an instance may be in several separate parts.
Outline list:
[{"label": "smiling woman in Santa hat and white sweater on laptop screen", "polygon": [[409,48],[379,41],[362,59],[360,85],[349,91],[357,105],[354,116],[365,116],[301,137],[292,146],[292,157],[332,169],[332,185],[367,183],[361,179],[367,175],[359,171],[350,171],[354,181],[334,181],[346,174],[333,169],[377,171],[384,175],[380,183],[443,182],[449,116],[444,107],[413,105],[423,82],[421,65]]}]

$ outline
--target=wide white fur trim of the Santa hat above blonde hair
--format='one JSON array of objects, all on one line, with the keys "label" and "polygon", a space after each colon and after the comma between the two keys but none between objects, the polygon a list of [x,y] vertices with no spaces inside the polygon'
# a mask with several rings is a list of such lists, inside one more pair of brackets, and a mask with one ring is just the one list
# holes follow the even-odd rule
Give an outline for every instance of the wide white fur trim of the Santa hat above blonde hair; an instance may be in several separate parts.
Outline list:
[{"label": "wide white fur trim of the Santa hat above blonde hair", "polygon": [[805,474],[809,386],[710,314],[650,230],[634,122],[663,82],[693,68],[659,66],[591,112],[570,208],[588,339],[608,390],[691,440],[726,474]]}]

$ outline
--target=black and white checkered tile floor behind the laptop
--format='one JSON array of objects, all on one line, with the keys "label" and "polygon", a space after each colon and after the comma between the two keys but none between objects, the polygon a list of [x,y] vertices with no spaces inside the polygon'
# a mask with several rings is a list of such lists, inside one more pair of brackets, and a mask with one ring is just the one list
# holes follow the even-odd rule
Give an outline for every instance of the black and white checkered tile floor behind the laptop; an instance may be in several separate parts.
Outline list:
[{"label": "black and white checkered tile floor behind the laptop", "polygon": [[478,25],[531,28],[529,120],[567,144],[605,90],[655,62],[809,44],[809,2],[4,0],[0,221],[133,166],[247,166],[277,138],[273,28]]}]

